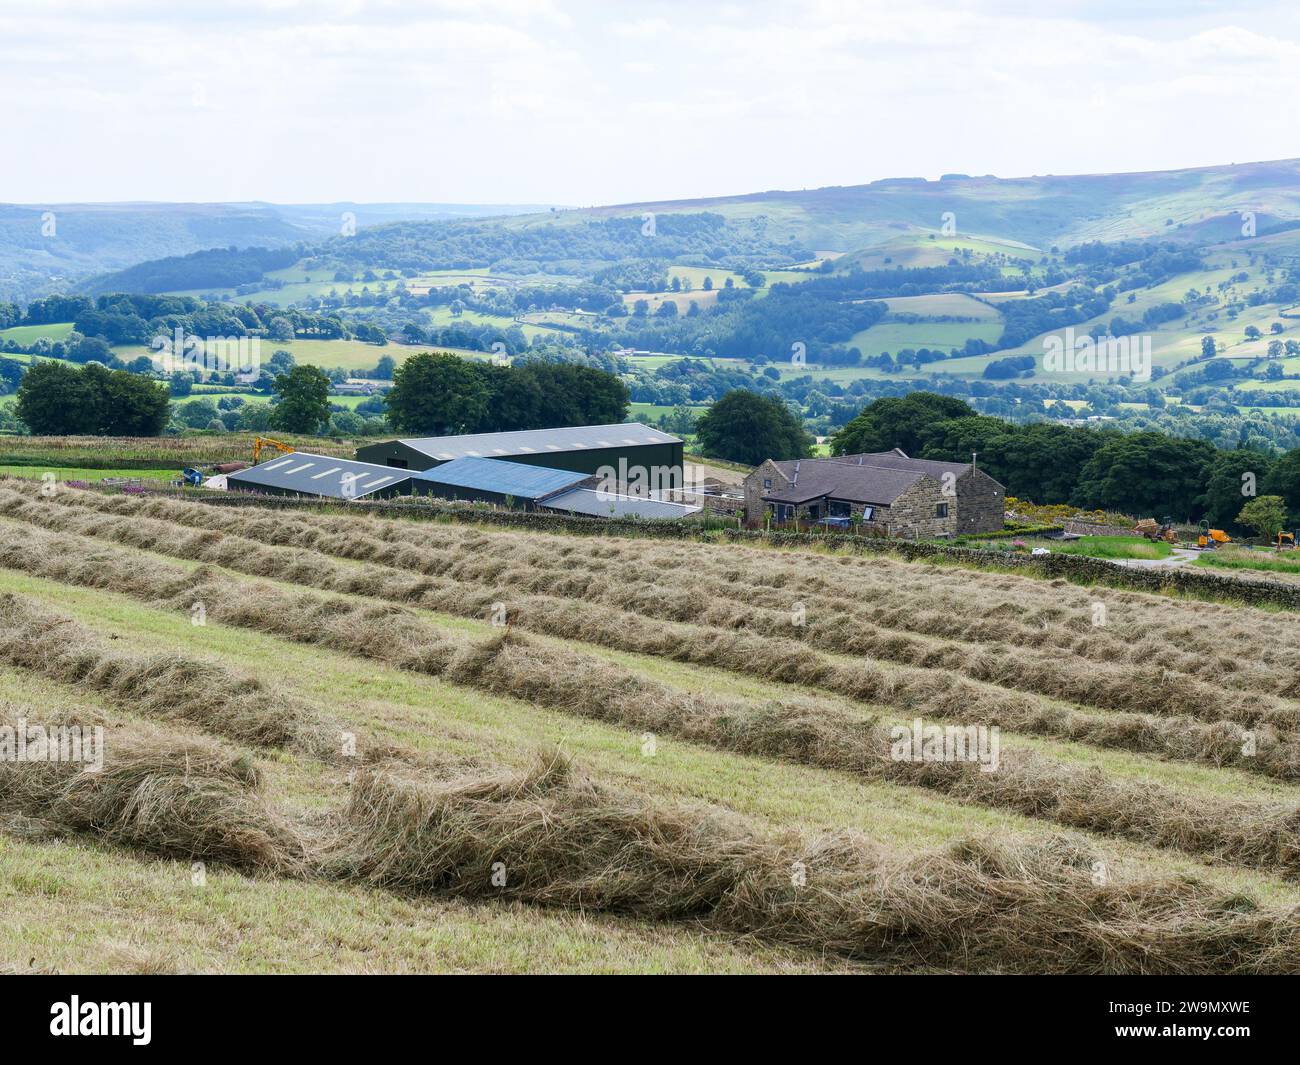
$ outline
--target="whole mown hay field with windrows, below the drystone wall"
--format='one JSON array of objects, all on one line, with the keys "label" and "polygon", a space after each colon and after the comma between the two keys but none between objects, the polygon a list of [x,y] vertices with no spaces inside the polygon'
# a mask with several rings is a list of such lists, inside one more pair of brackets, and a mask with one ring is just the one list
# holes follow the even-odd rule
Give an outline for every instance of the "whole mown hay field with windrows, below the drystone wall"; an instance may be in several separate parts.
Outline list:
[{"label": "whole mown hay field with windrows, below the drystone wall", "polygon": [[0,724],[104,765],[0,761],[0,966],[1300,970],[1288,615],[48,492],[0,479]]}]

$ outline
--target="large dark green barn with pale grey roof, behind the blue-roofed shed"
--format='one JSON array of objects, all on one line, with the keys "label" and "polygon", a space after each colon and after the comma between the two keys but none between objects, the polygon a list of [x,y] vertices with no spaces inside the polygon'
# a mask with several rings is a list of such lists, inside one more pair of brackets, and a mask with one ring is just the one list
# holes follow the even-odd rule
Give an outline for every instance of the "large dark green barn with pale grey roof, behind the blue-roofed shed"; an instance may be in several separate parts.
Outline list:
[{"label": "large dark green barn with pale grey roof, behind the blue-roofed shed", "polygon": [[647,425],[577,425],[568,429],[521,429],[460,437],[420,437],[368,443],[356,449],[358,462],[398,469],[433,469],[455,459],[508,459],[575,473],[614,471],[620,484],[646,471],[653,490],[682,486],[681,441]]}]

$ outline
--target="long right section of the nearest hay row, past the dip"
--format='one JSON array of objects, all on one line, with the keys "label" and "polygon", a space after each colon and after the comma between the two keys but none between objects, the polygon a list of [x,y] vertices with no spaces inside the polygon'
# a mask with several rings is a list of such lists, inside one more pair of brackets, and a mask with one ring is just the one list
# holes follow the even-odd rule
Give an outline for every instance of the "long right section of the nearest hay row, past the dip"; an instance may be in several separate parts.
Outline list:
[{"label": "long right section of the nearest hay row, past the dip", "polygon": [[328,866],[407,892],[692,921],[892,967],[1295,973],[1295,912],[1192,880],[1102,886],[1078,841],[966,840],[900,861],[853,836],[762,839],[586,780],[363,775]]}]

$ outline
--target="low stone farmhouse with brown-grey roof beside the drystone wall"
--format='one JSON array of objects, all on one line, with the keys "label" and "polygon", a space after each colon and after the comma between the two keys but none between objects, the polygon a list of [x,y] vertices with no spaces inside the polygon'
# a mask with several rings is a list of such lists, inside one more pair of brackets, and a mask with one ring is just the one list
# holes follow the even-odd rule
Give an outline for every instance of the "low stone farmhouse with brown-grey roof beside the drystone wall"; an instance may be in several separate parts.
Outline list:
[{"label": "low stone farmhouse with brown-grey roof beside the drystone wall", "polygon": [[931,538],[1002,528],[1006,490],[972,463],[901,450],[831,459],[768,459],[745,479],[745,518],[861,521],[887,536]]}]

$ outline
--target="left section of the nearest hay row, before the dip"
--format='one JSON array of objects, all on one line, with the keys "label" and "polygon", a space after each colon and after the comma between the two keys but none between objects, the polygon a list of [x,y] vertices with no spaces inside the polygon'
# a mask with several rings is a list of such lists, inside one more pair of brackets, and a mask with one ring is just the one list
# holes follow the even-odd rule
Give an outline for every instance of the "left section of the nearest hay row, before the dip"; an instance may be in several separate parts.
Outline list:
[{"label": "left section of the nearest hay row, before the dip", "polygon": [[[52,726],[31,707],[0,707],[4,724]],[[86,724],[61,715],[60,724]],[[259,793],[244,756],[207,740],[178,741],[146,728],[105,728],[104,765],[0,758],[0,810],[58,831],[178,858],[294,873],[298,832]]]}]

